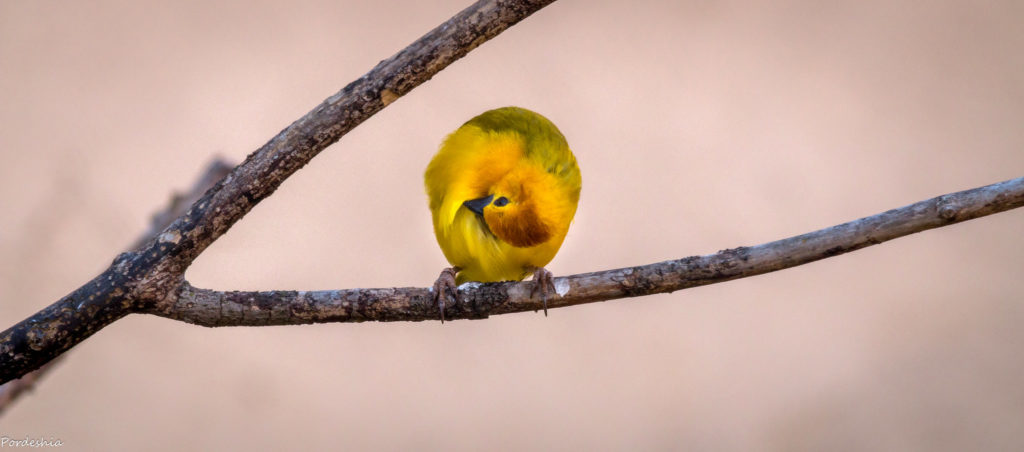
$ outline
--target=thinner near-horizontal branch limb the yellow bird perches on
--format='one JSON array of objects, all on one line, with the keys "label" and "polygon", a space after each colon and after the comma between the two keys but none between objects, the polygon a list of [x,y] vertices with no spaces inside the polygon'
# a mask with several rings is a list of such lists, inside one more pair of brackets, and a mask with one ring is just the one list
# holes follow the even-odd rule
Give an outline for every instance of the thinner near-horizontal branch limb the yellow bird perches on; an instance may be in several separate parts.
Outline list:
[{"label": "thinner near-horizontal branch limb the yellow bird perches on", "polygon": [[[877,215],[752,247],[649,265],[554,279],[548,307],[673,292],[775,272],[837,256],[913,233],[1024,206],[1024,177],[932,198]],[[446,319],[543,309],[532,282],[467,283]],[[431,289],[218,292],[182,282],[173,302],[146,312],[203,326],[301,325],[328,322],[439,320]]]}]

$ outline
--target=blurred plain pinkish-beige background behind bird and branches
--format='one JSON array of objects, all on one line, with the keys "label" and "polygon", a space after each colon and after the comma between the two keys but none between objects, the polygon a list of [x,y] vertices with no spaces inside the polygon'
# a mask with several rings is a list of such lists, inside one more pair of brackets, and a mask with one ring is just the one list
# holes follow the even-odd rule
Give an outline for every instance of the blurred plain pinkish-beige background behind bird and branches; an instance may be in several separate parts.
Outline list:
[{"label": "blurred plain pinkish-beige background behind bird and branches", "polygon": [[[100,272],[464,7],[0,1],[0,323]],[[1024,3],[563,0],[367,121],[212,246],[219,289],[426,286],[422,170],[475,114],[584,173],[556,275],[753,245],[1024,175]],[[205,329],[134,316],[0,418],[65,450],[1024,448],[1024,211],[537,314]]]}]

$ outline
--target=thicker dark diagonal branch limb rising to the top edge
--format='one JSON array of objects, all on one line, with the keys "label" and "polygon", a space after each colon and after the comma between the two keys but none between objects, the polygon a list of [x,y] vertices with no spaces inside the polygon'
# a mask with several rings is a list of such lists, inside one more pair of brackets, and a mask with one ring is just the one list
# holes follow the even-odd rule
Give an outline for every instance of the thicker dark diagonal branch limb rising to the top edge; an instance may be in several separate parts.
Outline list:
[{"label": "thicker dark diagonal branch limb rising to the top edge", "polygon": [[291,174],[370,116],[554,0],[479,0],[302,118],[141,247],[53,304],[0,332],[0,383],[25,375],[136,312],[166,309],[188,264]]}]

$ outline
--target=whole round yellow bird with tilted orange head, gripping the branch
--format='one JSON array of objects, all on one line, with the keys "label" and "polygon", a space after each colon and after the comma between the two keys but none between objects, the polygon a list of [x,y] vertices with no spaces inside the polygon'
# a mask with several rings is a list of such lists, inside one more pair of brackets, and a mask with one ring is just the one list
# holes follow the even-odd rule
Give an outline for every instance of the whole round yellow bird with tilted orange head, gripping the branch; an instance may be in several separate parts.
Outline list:
[{"label": "whole round yellow bird with tilted orange head, gripping the branch", "polygon": [[530,274],[547,315],[552,276],[544,265],[565,239],[583,184],[558,128],[526,109],[484,112],[444,139],[424,179],[434,235],[452,264],[434,283],[441,320],[457,284]]}]

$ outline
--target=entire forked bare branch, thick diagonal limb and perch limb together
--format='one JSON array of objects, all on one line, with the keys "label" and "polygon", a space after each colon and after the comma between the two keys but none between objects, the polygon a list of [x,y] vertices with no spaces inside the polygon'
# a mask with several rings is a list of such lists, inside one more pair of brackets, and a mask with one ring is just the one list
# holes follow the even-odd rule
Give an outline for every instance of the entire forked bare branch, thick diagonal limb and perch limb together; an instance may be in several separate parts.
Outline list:
[{"label": "entire forked bare branch, thick diagonal limb and perch limb together", "polygon": [[[381,61],[251,154],[182,215],[92,281],[0,332],[0,382],[25,375],[110,323],[148,313],[200,325],[439,319],[429,289],[217,292],[185,269],[259,201],[347,131],[472,48],[553,0],[480,0]],[[671,292],[786,269],[1024,205],[1024,178],[958,192],[755,247],[556,278],[550,307]],[[531,282],[468,284],[449,318],[536,311]]]}]

